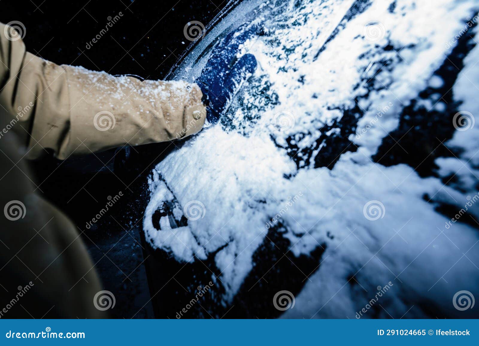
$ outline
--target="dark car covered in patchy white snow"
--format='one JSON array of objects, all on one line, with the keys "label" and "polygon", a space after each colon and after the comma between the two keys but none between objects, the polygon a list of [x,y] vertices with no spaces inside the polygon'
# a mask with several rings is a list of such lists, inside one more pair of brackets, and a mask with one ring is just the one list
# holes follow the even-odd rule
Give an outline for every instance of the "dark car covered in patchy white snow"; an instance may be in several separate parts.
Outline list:
[{"label": "dark car covered in patchy white snow", "polygon": [[230,1],[258,68],[151,172],[157,316],[479,317],[474,0]]}]

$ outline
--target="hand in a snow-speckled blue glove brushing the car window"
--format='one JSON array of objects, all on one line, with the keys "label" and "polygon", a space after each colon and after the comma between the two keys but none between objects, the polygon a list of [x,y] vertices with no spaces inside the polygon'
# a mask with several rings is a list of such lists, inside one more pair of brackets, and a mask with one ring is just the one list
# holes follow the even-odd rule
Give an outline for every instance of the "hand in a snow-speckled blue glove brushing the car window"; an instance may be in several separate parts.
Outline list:
[{"label": "hand in a snow-speckled blue glove brushing the car window", "polygon": [[[255,71],[257,62],[252,54],[245,54],[237,58],[239,45],[253,38],[257,28],[252,27],[247,31],[238,31],[228,34],[213,52],[196,80],[203,92],[203,103],[208,107],[206,119],[210,123],[217,123],[241,84],[246,81]],[[239,34],[238,34],[239,33]]]}]

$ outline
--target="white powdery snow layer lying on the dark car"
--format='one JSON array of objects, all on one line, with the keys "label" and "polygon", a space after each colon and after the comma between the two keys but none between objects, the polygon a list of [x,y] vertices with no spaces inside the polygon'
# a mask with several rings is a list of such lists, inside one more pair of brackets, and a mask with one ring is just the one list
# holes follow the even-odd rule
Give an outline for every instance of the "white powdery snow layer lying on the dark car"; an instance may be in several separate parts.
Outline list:
[{"label": "white powdery snow layer lying on the dark car", "polygon": [[[404,107],[427,86],[444,84],[434,71],[451,52],[446,43],[477,8],[466,0],[438,0],[434,6],[429,1],[393,2],[391,11],[390,2],[363,1],[364,11],[348,20],[343,17],[352,0],[305,0],[296,2],[298,6],[263,2],[251,25],[262,23],[265,35],[239,52],[257,58],[255,78],[243,86],[236,106],[225,114],[227,120],[205,128],[155,167],[145,211],[147,241],[180,262],[217,252],[218,278],[224,299],[231,302],[251,272],[252,254],[264,241],[268,222],[280,213],[293,254],[310,254],[326,245],[319,269],[284,317],[354,318],[376,288],[389,281],[394,286],[381,298],[383,309],[376,317],[427,317],[424,301],[451,316],[467,317],[468,311],[457,315],[451,300],[458,290],[478,287],[479,233],[463,222],[446,228],[450,219],[436,207],[446,203],[460,210],[478,193],[474,167],[479,165],[479,126],[455,131],[445,144],[462,152],[437,158],[437,176],[421,177],[406,164],[385,167],[372,156],[398,127]],[[256,4],[235,8],[233,19]],[[231,30],[232,22],[224,22],[228,17],[194,48],[175,79],[188,76],[191,81],[198,75],[212,40]],[[341,30],[335,31],[338,24]],[[479,114],[478,60],[476,46],[454,86],[455,100],[474,119]],[[266,90],[263,97],[255,94],[258,89]],[[444,110],[441,96],[431,95],[423,105]],[[275,97],[278,102],[264,106],[264,99]],[[306,157],[300,157],[298,169],[288,156],[287,139],[308,148],[324,124],[340,120],[356,104],[363,115],[349,139],[358,150],[340,152],[332,170],[308,166]],[[326,135],[339,132],[331,129]],[[323,144],[312,157],[321,150]],[[455,173],[457,181],[445,185],[442,178]],[[281,212],[293,196],[298,198]],[[201,202],[204,217],[181,227],[172,227],[163,217],[157,230],[153,213],[173,199],[178,217],[190,201]],[[377,219],[365,217],[370,201],[380,203]],[[478,215],[475,206],[471,210]],[[358,285],[349,284],[352,276]]]}]

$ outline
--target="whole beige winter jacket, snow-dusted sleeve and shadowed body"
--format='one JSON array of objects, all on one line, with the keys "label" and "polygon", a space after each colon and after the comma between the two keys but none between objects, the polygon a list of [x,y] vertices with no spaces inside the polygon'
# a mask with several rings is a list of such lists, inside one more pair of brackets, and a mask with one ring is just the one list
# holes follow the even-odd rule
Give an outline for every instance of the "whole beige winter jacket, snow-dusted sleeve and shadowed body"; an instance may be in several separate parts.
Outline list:
[{"label": "whole beige winter jacket, snow-dusted sleeve and shadowed body", "polygon": [[41,197],[25,160],[192,135],[201,98],[183,81],[56,65],[0,23],[0,318],[105,317],[83,231]]}]

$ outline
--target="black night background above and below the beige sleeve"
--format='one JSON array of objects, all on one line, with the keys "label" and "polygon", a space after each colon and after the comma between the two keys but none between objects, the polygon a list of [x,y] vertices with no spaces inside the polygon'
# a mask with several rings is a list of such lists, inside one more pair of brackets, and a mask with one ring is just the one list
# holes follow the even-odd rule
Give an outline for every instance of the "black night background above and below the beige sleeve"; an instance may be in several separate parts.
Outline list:
[{"label": "black night background above and below the beige sleeve", "polygon": [[[227,2],[3,0],[0,21],[22,22],[27,50],[57,64],[163,79],[190,43],[183,36],[185,24],[200,21],[206,25]],[[108,17],[119,12],[123,16],[86,49],[105,28]],[[141,218],[148,202],[148,173],[174,148],[171,143],[160,143],[66,161],[47,156],[32,162],[35,183],[46,199],[85,231],[82,237],[103,289],[112,291],[116,298],[112,317],[154,317],[143,265],[148,255],[144,256],[141,245]],[[108,196],[119,191],[124,196],[114,208],[86,229],[86,222],[105,207]]]}]

